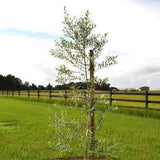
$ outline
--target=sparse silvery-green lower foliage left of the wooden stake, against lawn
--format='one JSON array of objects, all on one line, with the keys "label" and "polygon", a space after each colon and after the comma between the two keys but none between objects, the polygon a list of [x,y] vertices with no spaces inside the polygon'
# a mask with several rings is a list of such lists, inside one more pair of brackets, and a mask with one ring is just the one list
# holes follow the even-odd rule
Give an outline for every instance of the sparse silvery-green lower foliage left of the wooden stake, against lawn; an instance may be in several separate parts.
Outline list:
[{"label": "sparse silvery-green lower foliage left of the wooden stake, against lawn", "polygon": [[[56,139],[49,141],[48,145],[59,153],[66,154],[79,153],[80,150],[84,150],[87,115],[81,110],[81,117],[71,119],[68,108],[58,105],[55,105],[55,108],[59,112],[55,113],[54,110],[50,109],[50,126],[53,129],[53,137]],[[77,147],[73,148],[75,142]]]}]

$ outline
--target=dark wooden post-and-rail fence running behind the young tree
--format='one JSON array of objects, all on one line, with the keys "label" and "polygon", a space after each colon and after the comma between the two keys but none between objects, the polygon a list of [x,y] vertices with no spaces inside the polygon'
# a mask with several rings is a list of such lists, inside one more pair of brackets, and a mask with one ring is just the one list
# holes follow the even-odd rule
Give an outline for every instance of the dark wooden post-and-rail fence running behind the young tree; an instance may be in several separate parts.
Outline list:
[{"label": "dark wooden post-and-rail fence running behind the young tree", "polygon": [[[79,91],[79,99],[86,99],[87,97],[87,92],[86,91]],[[7,96],[27,96],[29,97],[48,97],[50,100],[52,98],[63,98],[64,100],[67,100],[68,98],[73,98],[73,93],[71,91],[56,91],[56,90],[18,90],[18,91],[9,91],[9,90],[1,90],[0,94],[2,96],[7,95]],[[99,96],[96,95],[104,95],[103,98],[99,98]],[[134,96],[143,96],[141,99],[125,99],[125,98],[116,98],[114,97],[115,95],[134,95]],[[139,103],[144,103],[145,108],[148,109],[148,104],[149,103],[154,103],[154,104],[160,104],[160,97],[158,97],[156,100],[150,100],[149,96],[154,96],[158,97],[160,96],[160,92],[118,92],[118,91],[95,91],[95,99],[100,101],[109,101],[109,104],[112,105],[113,101],[121,101],[121,102],[139,102]],[[159,107],[160,109],[160,107]]]}]

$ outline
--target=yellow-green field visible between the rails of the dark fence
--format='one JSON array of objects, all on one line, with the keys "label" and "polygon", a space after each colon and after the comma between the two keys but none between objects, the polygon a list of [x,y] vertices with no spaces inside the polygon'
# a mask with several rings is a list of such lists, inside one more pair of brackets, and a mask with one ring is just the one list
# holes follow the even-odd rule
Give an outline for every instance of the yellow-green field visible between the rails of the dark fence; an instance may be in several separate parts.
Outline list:
[{"label": "yellow-green field visible between the rails of the dark fence", "polygon": [[[38,93],[39,92],[39,93]],[[85,99],[85,91],[79,90],[78,91],[79,95],[78,97],[80,99]],[[119,92],[120,93],[120,92]],[[123,92],[122,92],[123,93]],[[132,92],[131,92],[132,93]],[[125,100],[143,100],[145,101],[145,92],[144,91],[137,91],[133,93],[143,93],[144,95],[124,95],[124,94],[113,94],[112,98],[113,99],[125,99]],[[160,109],[160,91],[149,91],[148,93],[159,93],[159,95],[149,95],[148,96],[148,101],[159,101],[159,103],[148,103],[148,108],[151,109]],[[73,91],[64,91],[64,90],[52,90],[51,93],[49,90],[30,90],[29,92],[27,90],[21,91],[20,92],[20,97],[30,97],[30,98],[39,98],[39,99],[52,99],[52,100],[65,100],[69,99],[71,100],[75,93]],[[2,91],[0,92],[0,95],[2,95]],[[18,91],[3,91],[3,95],[9,95],[9,96],[19,96]],[[39,96],[38,96],[39,95]],[[109,91],[95,91],[95,98],[97,99],[106,99],[109,101],[110,95]],[[102,101],[102,100],[101,100]],[[118,106],[129,106],[129,107],[140,107],[140,108],[145,108],[145,102],[125,102],[125,101],[114,101],[113,100],[113,105],[118,105]]]}]

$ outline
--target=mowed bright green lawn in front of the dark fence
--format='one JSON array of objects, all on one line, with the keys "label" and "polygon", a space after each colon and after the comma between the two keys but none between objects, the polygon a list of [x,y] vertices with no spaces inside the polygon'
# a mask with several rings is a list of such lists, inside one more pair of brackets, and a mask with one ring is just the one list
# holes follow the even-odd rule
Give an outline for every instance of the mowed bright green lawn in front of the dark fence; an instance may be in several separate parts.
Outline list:
[{"label": "mowed bright green lawn in front of the dark fence", "polygon": [[[56,139],[49,127],[49,108],[55,113],[60,111],[54,104],[0,97],[0,160],[47,160],[64,156],[47,144]],[[68,110],[71,117],[81,116],[82,108],[68,107]],[[97,136],[106,143],[114,140],[121,160],[160,159],[159,119],[110,113]],[[75,151],[73,156],[80,153]]]}]

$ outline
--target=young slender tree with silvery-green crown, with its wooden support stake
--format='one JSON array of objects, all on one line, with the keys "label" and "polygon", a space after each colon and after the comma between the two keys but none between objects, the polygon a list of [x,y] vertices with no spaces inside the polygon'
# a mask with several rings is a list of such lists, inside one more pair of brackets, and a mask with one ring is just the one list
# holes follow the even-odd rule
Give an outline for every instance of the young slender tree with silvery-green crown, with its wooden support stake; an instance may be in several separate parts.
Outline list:
[{"label": "young slender tree with silvery-green crown, with its wooden support stake", "polygon": [[[66,62],[66,64],[57,68],[58,76],[56,81],[67,83],[77,80],[87,84],[89,122],[86,136],[91,139],[91,158],[95,159],[94,73],[115,64],[117,56],[106,56],[102,62],[99,62],[102,49],[108,42],[107,33],[103,35],[94,33],[96,25],[90,19],[89,11],[86,11],[85,15],[79,18],[70,17],[66,7],[64,7],[63,25],[64,36],[55,41],[55,48],[50,50],[54,57]],[[88,145],[86,145],[85,157],[87,151]]]}]

